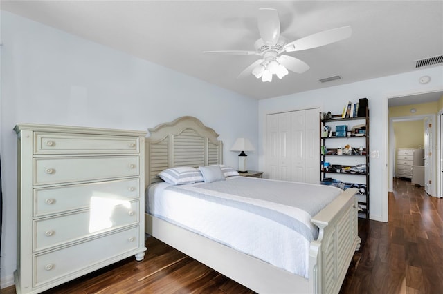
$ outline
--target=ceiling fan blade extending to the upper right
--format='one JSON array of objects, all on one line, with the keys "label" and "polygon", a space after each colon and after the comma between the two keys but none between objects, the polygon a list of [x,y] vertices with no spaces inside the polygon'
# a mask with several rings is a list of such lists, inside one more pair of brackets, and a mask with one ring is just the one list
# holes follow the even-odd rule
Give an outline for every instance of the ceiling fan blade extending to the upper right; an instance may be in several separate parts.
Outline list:
[{"label": "ceiling fan blade extending to the upper right", "polygon": [[284,48],[287,52],[306,50],[325,46],[330,43],[335,43],[351,36],[352,30],[350,26],[343,26],[341,28],[333,28],[332,30],[325,30],[317,32],[316,34],[302,37],[291,43],[287,43]]}]

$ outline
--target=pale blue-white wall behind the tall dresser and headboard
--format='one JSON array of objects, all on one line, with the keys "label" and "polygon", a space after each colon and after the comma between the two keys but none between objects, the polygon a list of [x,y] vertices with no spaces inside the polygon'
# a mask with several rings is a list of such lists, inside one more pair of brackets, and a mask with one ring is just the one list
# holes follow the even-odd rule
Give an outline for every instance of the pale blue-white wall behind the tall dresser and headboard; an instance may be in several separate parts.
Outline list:
[{"label": "pale blue-white wall behind the tall dresser and headboard", "polygon": [[257,148],[255,99],[3,11],[1,43],[2,288],[16,268],[15,124],[146,130],[192,115],[220,134],[225,164],[237,167],[237,137]]}]

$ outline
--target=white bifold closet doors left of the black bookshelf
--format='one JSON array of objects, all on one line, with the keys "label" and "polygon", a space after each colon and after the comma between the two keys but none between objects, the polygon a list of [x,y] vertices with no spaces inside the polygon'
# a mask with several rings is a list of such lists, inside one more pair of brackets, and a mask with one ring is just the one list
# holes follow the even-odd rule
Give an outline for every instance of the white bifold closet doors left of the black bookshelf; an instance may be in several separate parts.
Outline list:
[{"label": "white bifold closet doors left of the black bookshelf", "polygon": [[266,178],[318,184],[318,112],[266,115]]}]

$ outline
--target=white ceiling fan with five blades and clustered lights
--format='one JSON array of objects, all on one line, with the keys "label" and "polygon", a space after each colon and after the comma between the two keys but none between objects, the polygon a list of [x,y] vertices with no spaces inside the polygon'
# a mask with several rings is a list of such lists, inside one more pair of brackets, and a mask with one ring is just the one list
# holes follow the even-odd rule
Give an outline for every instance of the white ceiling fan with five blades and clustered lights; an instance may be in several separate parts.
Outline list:
[{"label": "white ceiling fan with five blades and clustered lights", "polygon": [[261,58],[245,68],[238,77],[246,77],[252,73],[257,79],[261,77],[262,81],[272,81],[274,74],[282,79],[289,73],[288,70],[300,74],[309,70],[309,66],[304,61],[289,55],[282,55],[282,52],[294,52],[325,46],[346,39],[352,33],[350,26],[343,26],[318,32],[288,43],[287,39],[280,35],[280,18],[277,10],[260,8],[257,23],[261,38],[254,43],[255,51],[224,50],[204,51],[204,53],[211,55],[258,55]]}]

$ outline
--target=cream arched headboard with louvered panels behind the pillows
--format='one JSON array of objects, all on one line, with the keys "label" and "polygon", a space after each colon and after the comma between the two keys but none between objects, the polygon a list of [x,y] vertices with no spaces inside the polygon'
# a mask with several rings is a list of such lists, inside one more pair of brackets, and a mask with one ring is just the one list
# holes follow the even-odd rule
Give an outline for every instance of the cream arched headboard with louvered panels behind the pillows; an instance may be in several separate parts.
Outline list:
[{"label": "cream arched headboard with louvered panels behind the pillows", "polygon": [[161,181],[158,174],[166,168],[223,163],[219,134],[195,117],[179,117],[149,132],[145,142],[145,186]]}]

